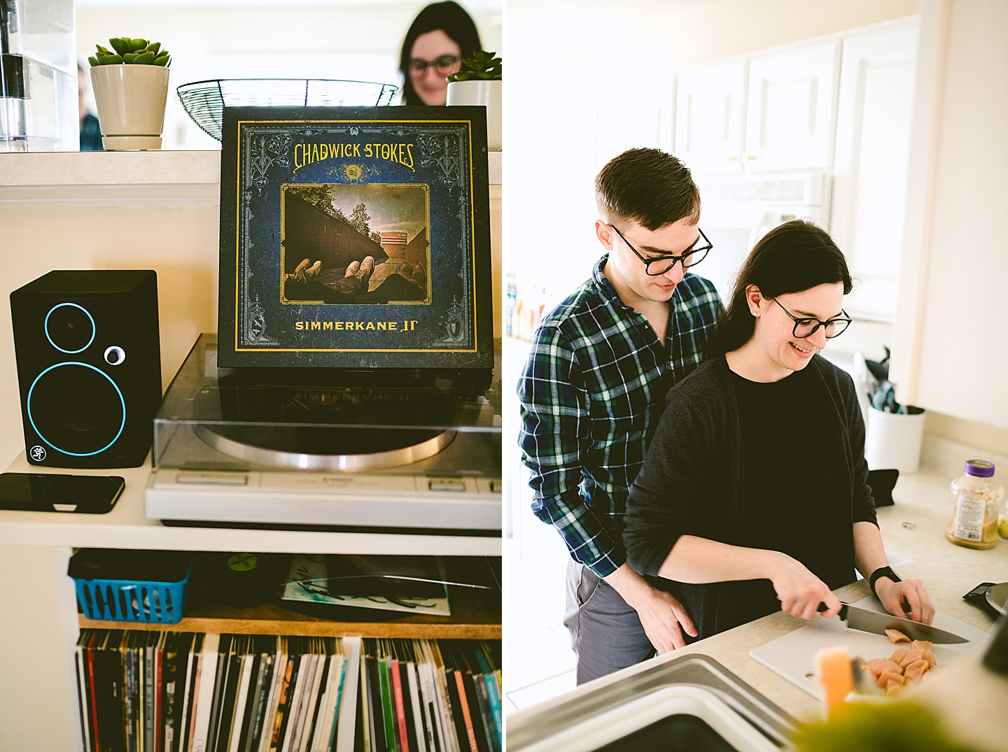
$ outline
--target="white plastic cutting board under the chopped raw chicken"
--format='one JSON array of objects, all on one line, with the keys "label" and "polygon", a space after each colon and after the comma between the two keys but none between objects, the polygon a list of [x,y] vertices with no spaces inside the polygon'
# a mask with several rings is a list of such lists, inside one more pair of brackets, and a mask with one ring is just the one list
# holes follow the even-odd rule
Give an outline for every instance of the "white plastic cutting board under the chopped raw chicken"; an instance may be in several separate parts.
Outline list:
[{"label": "white plastic cutting board under the chopped raw chicken", "polygon": [[[884,613],[882,604],[872,596],[851,605],[868,611]],[[959,619],[954,619],[940,611],[934,614],[931,626],[970,640],[970,642],[954,645],[935,644],[934,659],[938,665],[954,660],[965,653],[974,652],[988,636],[987,632],[964,624]],[[849,629],[847,622],[841,621],[839,618],[817,618],[793,632],[788,632],[765,645],[753,648],[749,654],[767,668],[775,670],[812,697],[822,700],[823,686],[813,673],[815,671],[815,653],[824,647],[834,645],[848,645],[851,649],[851,657],[860,655],[865,660],[887,658],[892,655],[893,650],[899,647],[899,645],[890,642],[888,637]]]}]

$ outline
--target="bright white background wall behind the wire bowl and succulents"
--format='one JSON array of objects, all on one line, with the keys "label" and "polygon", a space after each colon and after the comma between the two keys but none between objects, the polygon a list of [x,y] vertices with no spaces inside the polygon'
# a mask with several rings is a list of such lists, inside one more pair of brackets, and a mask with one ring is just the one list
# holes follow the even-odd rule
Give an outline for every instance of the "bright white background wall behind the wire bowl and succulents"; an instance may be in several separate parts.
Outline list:
[{"label": "bright white background wall behind the wire bowl and succulents", "polygon": [[[502,0],[462,0],[486,49],[501,51]],[[164,148],[219,149],[175,88],[209,79],[349,79],[399,86],[399,47],[422,0],[177,3],[78,0],[82,60],[111,36],[160,41],[172,54]],[[87,67],[87,65],[86,65]]]}]

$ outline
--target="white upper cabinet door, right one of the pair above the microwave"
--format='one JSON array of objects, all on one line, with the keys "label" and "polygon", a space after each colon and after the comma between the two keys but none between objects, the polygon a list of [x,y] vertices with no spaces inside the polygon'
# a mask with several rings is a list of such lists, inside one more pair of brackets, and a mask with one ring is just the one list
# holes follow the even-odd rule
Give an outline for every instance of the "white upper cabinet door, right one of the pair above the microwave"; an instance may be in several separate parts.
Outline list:
[{"label": "white upper cabinet door, right one of the pair above the microwave", "polygon": [[836,40],[749,60],[747,170],[832,165],[839,58]]}]

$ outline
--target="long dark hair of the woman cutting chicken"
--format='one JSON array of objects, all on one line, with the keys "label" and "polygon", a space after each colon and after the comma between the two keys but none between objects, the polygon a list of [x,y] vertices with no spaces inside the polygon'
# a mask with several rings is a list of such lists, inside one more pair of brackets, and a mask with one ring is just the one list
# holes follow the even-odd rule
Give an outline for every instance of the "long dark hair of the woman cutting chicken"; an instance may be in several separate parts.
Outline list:
[{"label": "long dark hair of the woman cutting chicken", "polygon": [[847,259],[829,233],[804,219],[774,228],[757,241],[739,270],[732,299],[707,343],[708,357],[738,349],[753,335],[756,318],[746,303],[750,285],[764,298],[776,298],[833,282],[843,283],[844,295],[853,287]]}]

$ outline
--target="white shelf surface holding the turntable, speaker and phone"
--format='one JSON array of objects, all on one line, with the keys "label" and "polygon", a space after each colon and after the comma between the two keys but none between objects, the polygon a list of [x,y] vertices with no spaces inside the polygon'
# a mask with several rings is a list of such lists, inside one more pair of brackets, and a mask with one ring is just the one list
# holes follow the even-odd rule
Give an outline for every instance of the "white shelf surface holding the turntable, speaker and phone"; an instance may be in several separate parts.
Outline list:
[{"label": "white shelf surface holding the turntable, speaker and phone", "polygon": [[143,488],[150,461],[114,470],[62,470],[29,465],[22,452],[7,472],[121,475],[126,488],[107,514],[0,511],[0,546],[163,549],[181,551],[255,551],[312,554],[386,554],[400,556],[500,556],[500,537],[383,533],[325,533],[226,528],[182,528],[144,515]]}]

